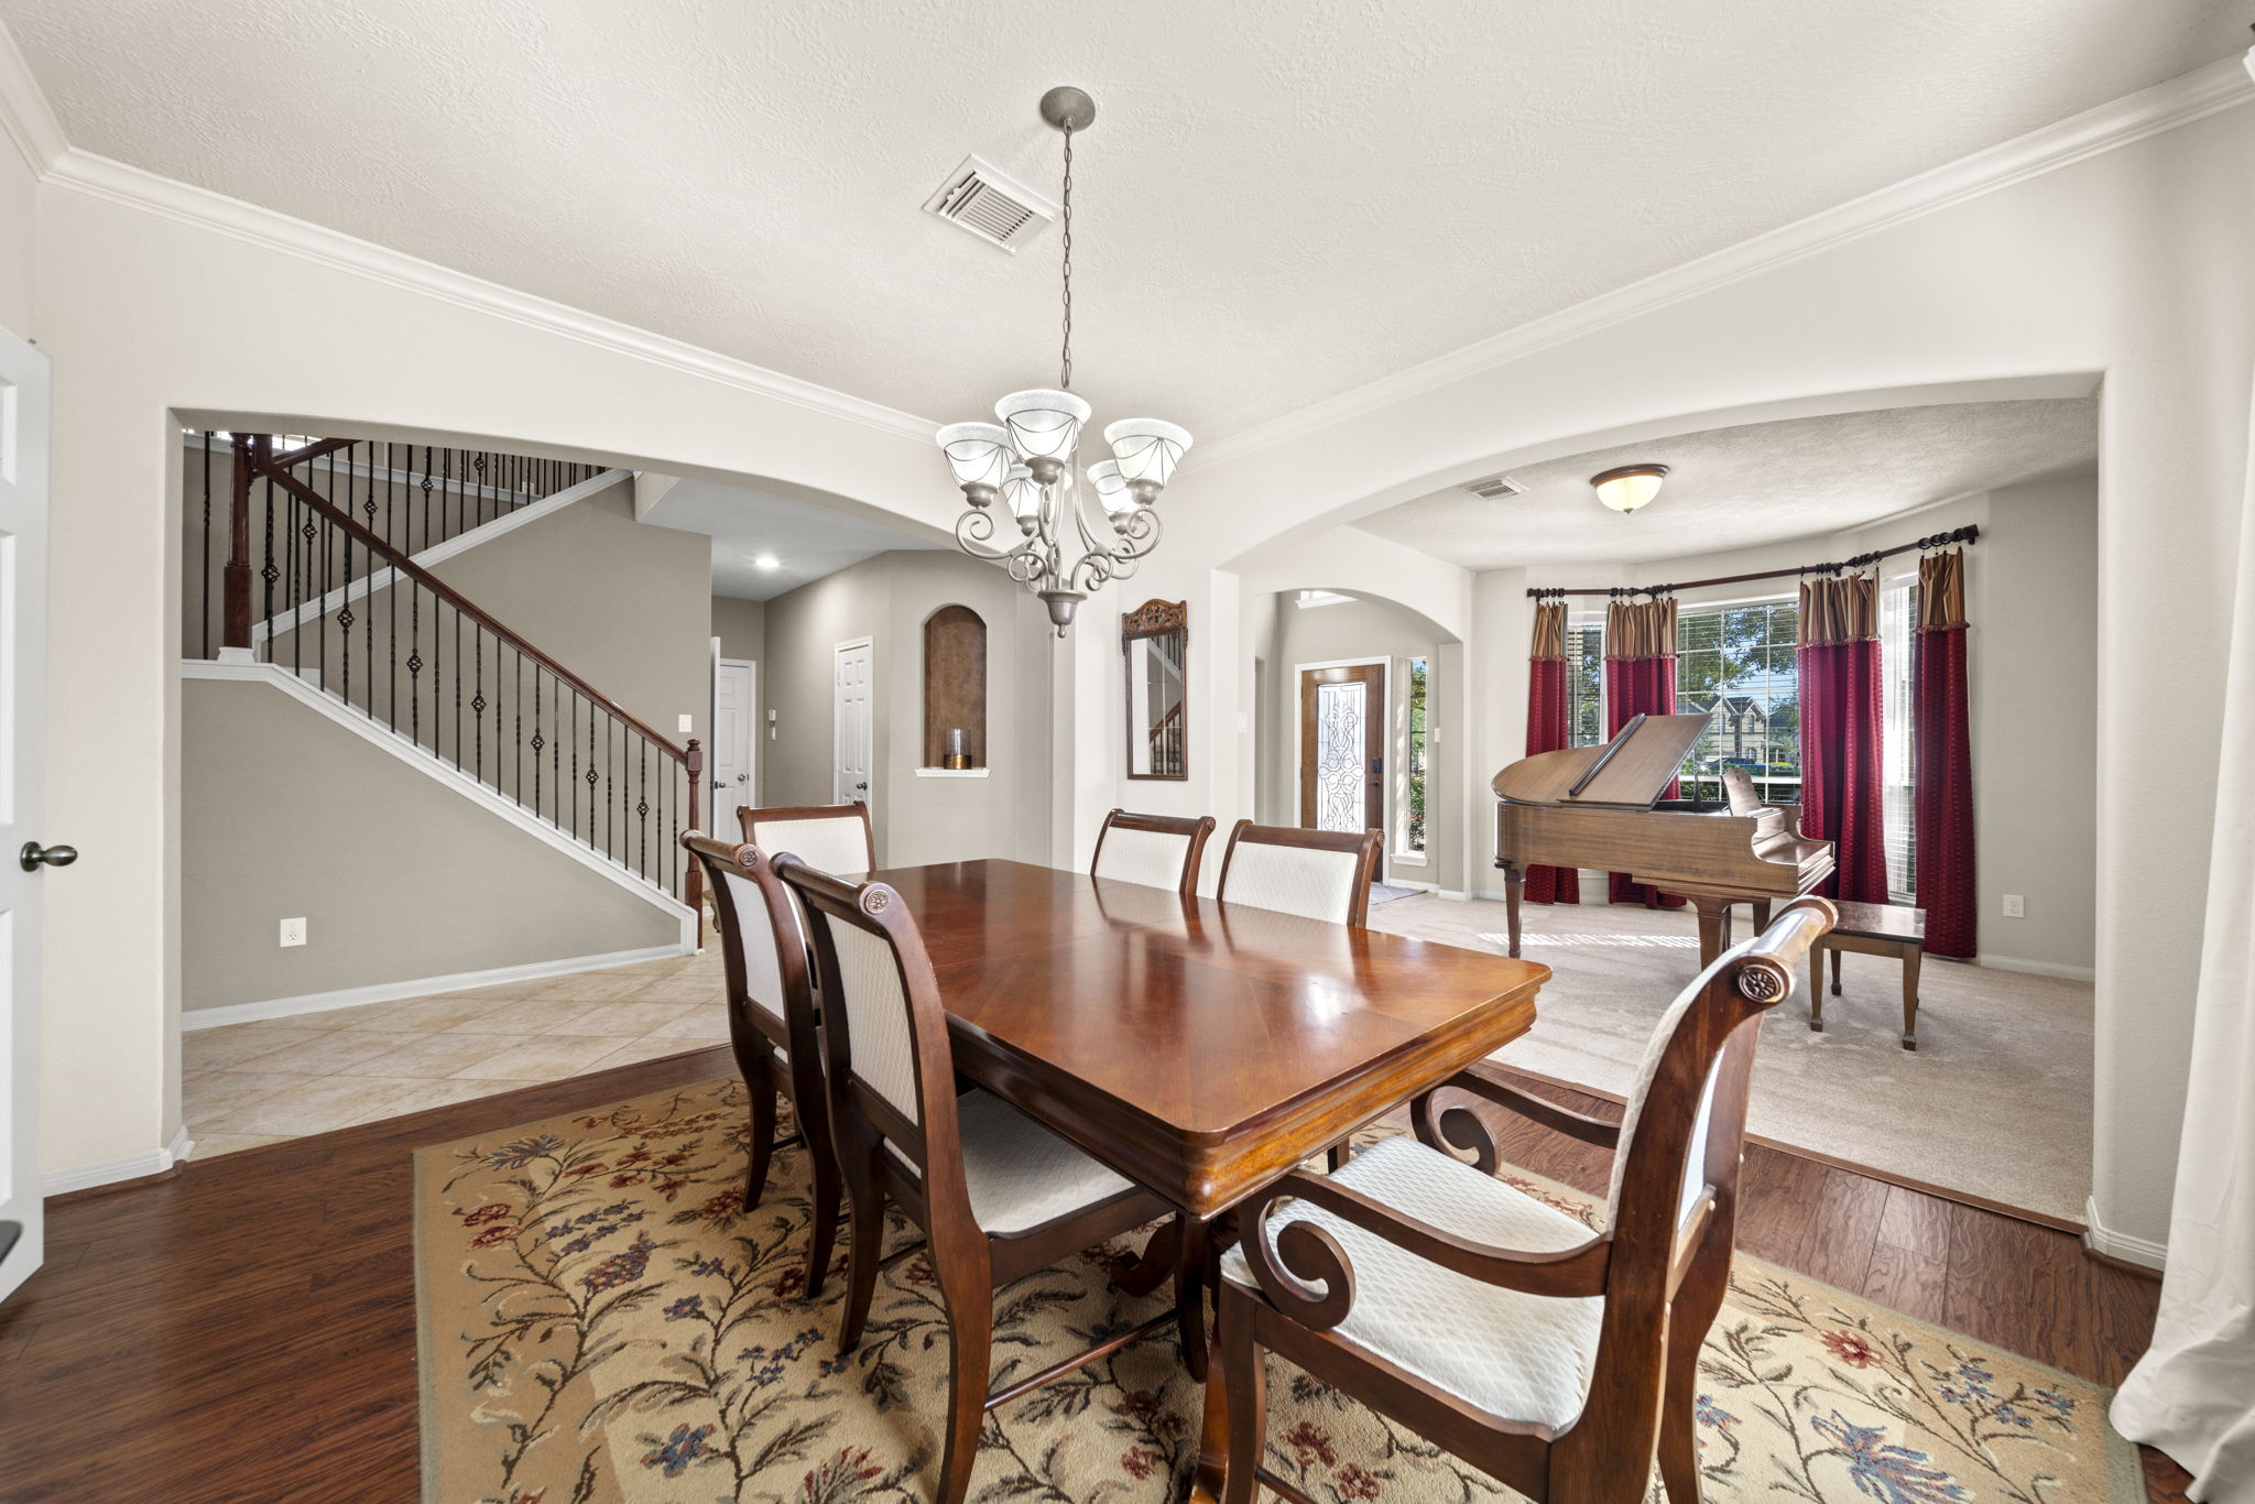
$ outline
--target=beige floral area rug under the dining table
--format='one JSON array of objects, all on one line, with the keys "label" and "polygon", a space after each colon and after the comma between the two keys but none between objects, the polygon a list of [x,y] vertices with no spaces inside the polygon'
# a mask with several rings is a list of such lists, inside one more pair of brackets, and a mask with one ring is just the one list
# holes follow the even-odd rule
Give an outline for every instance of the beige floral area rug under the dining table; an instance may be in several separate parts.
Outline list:
[{"label": "beige floral area rug under the dining table", "polygon": [[[843,1245],[805,1299],[805,1150],[744,1211],[744,1085],[417,1152],[426,1504],[922,1502],[938,1477],[947,1317],[922,1254],[884,1272],[837,1355]],[[1594,1220],[1590,1197],[1511,1175]],[[895,1220],[886,1247],[909,1229]],[[1091,1249],[997,1294],[994,1384],[1125,1330]],[[1270,1360],[1267,1461],[1328,1504],[1515,1499]],[[2131,1504],[2108,1391],[1739,1258],[1698,1398],[1705,1497]],[[988,1416],[974,1504],[1184,1495],[1202,1389],[1170,1330]],[[1660,1490],[1653,1486],[1657,1502]]]}]

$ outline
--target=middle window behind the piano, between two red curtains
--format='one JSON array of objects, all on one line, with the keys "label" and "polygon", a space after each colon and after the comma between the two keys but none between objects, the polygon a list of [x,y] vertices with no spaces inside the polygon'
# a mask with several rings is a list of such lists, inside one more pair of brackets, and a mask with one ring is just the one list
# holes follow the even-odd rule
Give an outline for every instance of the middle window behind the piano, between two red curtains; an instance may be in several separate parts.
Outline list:
[{"label": "middle window behind the piano, between two red curtains", "polygon": [[1678,611],[1675,713],[1709,717],[1684,758],[1684,798],[1723,798],[1727,767],[1752,773],[1768,803],[1802,796],[1797,629],[1790,595]]}]

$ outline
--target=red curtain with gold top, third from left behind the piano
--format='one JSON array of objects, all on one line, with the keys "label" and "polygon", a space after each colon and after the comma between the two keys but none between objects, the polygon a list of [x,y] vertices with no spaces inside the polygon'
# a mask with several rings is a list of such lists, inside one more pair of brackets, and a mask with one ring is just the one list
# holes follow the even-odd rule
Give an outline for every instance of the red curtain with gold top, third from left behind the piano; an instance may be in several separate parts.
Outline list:
[{"label": "red curtain with gold top, third from left behind the piano", "polygon": [[1802,834],[1833,843],[1822,893],[1887,902],[1881,796],[1878,589],[1869,575],[1802,584]]}]

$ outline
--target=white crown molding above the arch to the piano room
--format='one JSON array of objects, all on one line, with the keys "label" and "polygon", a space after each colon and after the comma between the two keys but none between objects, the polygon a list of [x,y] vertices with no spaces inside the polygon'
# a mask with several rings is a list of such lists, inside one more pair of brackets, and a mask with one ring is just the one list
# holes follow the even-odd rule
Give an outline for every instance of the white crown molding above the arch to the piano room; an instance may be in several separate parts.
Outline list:
[{"label": "white crown molding above the arch to the piano room", "polygon": [[1326,397],[1297,413],[1285,413],[1265,424],[1224,435],[1184,455],[1182,469],[1191,469],[1193,465],[1211,469],[1213,465],[1306,437],[1319,428],[1423,397],[1425,392],[1500,365],[1511,365],[1513,361],[1524,361],[1536,352],[1597,334],[1610,325],[1655,313],[1741,277],[1752,277],[1831,250],[1833,246],[1892,230],[1912,219],[2061,167],[2072,167],[2075,162],[2142,142],[2163,131],[2174,131],[2176,126],[2250,99],[2255,99],[2255,50],[2246,56],[2208,63],[2205,68],[2142,88],[2135,95],[2124,95],[2081,115],[2070,115],[2027,135],[2016,135],[2009,142],[1957,158],[1914,178],[1903,178],[1863,198],[1849,198],[1809,219],[1766,230],[1736,246],[1682,262],[1610,293],[1599,293],[1569,309],[1545,313],[1515,329],[1463,345],[1391,377],[1380,377],[1351,392]]}]

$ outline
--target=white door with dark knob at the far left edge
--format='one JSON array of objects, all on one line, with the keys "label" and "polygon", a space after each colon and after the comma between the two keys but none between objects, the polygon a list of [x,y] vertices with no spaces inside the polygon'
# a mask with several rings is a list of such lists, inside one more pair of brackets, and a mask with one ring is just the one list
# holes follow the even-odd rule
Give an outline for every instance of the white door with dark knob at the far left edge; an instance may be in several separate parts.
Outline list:
[{"label": "white door with dark knob at the far left edge", "polygon": [[47,356],[0,329],[0,1299],[38,1267],[38,828],[47,749]]}]

